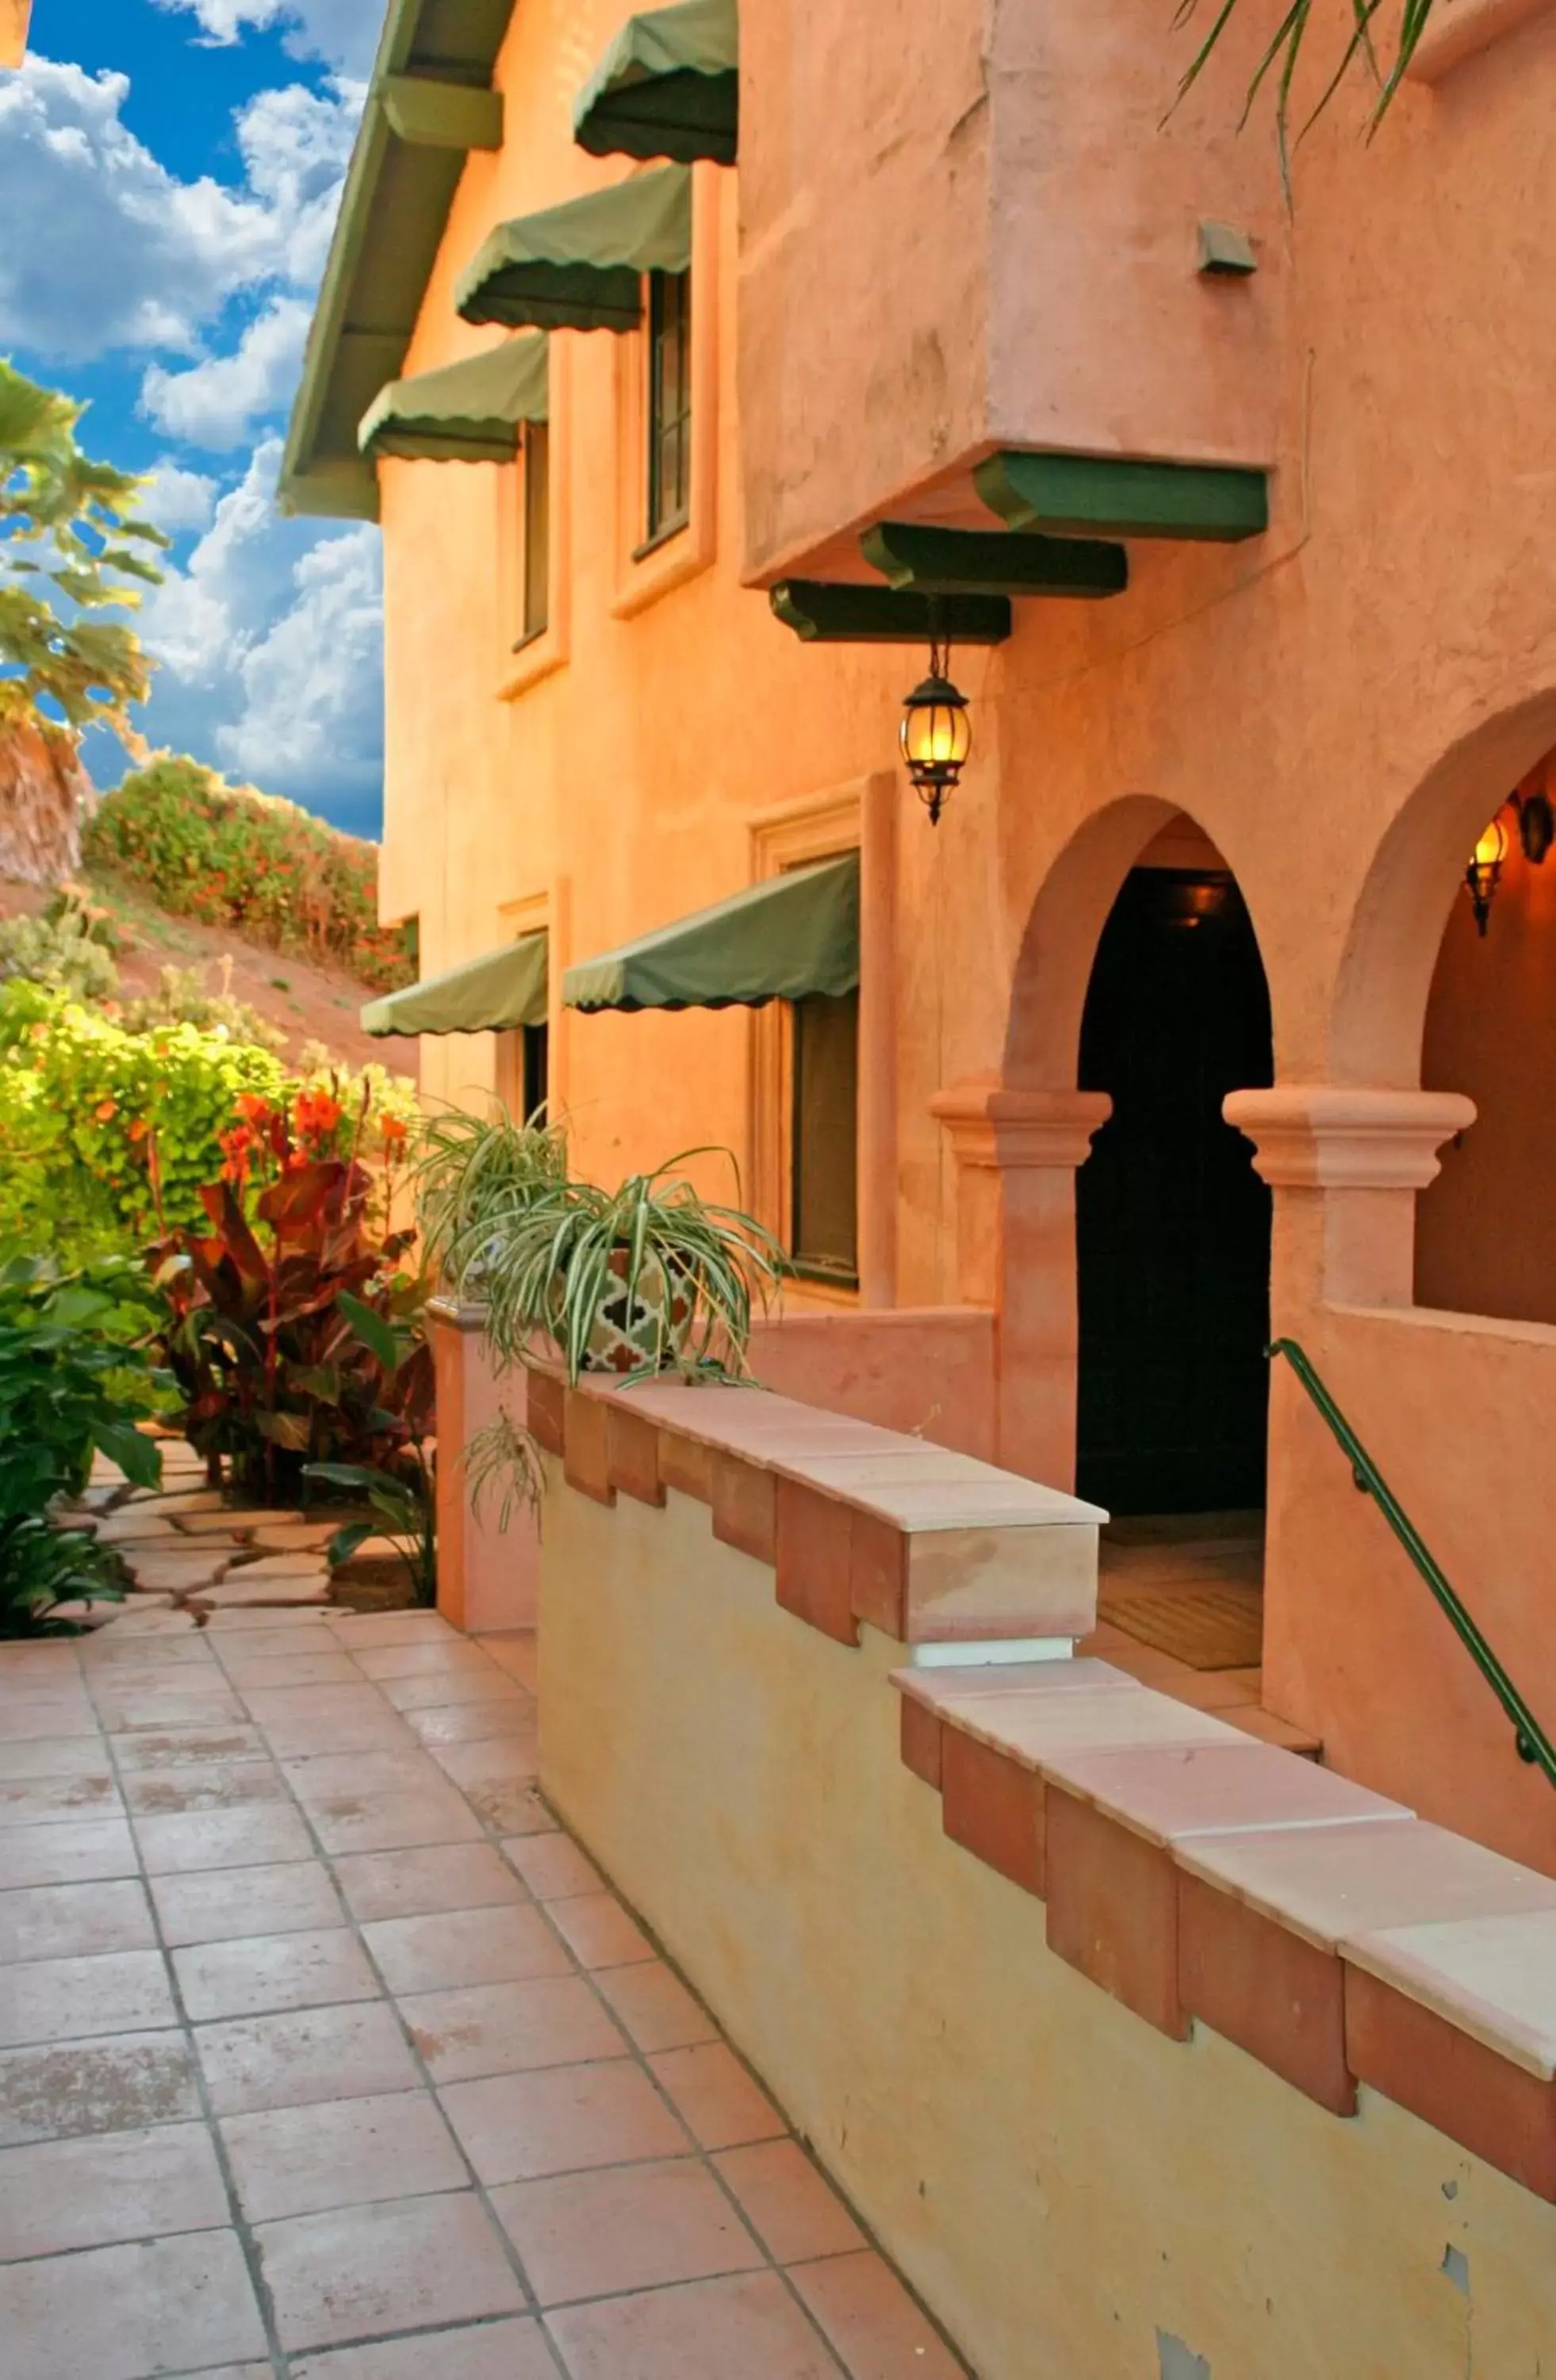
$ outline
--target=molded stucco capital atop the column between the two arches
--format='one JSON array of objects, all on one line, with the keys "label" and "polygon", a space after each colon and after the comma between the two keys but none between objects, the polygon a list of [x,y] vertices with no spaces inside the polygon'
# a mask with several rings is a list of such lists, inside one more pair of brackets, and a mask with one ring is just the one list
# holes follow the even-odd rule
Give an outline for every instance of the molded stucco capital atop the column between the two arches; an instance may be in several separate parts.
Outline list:
[{"label": "molded stucco capital atop the column between the two arches", "polygon": [[1273,1190],[1425,1190],[1442,1142],[1475,1121],[1456,1090],[1349,1083],[1235,1090],[1221,1111],[1254,1142],[1254,1171]]}]

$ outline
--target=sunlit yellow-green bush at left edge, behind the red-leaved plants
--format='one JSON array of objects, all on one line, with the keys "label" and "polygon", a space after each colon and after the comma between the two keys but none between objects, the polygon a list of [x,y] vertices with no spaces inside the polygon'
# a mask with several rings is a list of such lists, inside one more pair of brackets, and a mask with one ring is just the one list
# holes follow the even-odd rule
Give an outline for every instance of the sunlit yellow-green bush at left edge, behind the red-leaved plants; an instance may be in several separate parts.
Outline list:
[{"label": "sunlit yellow-green bush at left edge, behind the red-leaved plants", "polygon": [[140,1250],[202,1216],[240,1092],[276,1097],[269,1050],[197,1026],[128,1033],[36,983],[0,985],[0,1242],[64,1259]]}]

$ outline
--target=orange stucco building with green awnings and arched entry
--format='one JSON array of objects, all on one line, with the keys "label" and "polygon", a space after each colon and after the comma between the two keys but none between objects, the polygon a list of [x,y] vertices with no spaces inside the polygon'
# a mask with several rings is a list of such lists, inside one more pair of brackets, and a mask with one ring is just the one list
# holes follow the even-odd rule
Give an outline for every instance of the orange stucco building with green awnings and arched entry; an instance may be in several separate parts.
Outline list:
[{"label": "orange stucco building with green awnings and arched entry", "polygon": [[1266,1709],[1551,1871],[1263,1349],[1556,1726],[1556,17],[1442,0],[1290,205],[1256,50],[1173,107],[1159,0],[393,0],[283,497],[383,524],[383,914],[490,962],[426,1092],[728,1147],[766,1378],[1256,1516]]}]

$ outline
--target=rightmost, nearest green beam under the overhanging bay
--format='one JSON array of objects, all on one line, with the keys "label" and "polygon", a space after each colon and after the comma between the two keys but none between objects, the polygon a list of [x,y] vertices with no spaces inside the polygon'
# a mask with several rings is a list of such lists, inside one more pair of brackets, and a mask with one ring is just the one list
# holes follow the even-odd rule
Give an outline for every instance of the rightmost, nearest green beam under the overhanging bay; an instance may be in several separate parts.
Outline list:
[{"label": "rightmost, nearest green beam under the overhanging bay", "polygon": [[1201,538],[1232,545],[1270,526],[1263,471],[1204,462],[1121,462],[1109,455],[1025,455],[980,462],[978,495],[1009,528],[1094,538]]}]

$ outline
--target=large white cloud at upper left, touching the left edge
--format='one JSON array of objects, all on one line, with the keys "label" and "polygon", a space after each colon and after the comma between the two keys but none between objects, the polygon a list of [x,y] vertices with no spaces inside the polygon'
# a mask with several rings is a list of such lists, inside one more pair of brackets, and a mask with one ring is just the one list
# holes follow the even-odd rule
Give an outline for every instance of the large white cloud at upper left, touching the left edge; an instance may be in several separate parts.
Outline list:
[{"label": "large white cloud at upper left, touching the left edge", "polygon": [[124,124],[128,76],[29,57],[0,81],[0,345],[83,362],[181,355],[240,290],[312,286],[362,107],[357,86],[262,90],[238,112],[245,183],[178,181]]}]

